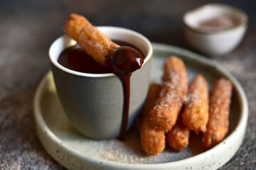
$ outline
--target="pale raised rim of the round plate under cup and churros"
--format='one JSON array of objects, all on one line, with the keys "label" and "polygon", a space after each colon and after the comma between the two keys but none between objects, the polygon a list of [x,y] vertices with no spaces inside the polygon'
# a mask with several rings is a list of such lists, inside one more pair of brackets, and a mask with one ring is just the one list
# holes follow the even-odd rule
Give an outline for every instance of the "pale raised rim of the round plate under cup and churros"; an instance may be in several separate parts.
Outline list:
[{"label": "pale raised rim of the round plate under cup and churros", "polygon": [[[60,145],[60,147],[64,147],[67,150],[67,152],[71,152],[72,154],[74,154],[76,157],[79,157],[80,159],[87,159],[89,162],[93,162],[94,164],[99,164],[99,162],[103,162],[104,164],[102,164],[102,166],[107,165],[107,166],[111,166],[113,168],[119,168],[119,169],[120,168],[129,169],[131,167],[134,169],[135,168],[136,169],[149,169],[149,166],[150,166],[150,169],[170,168],[172,166],[175,167],[180,164],[183,164],[183,162],[194,162],[194,161],[200,159],[200,157],[204,157],[208,154],[215,154],[216,151],[221,149],[221,145],[223,145],[223,143],[229,142],[230,140],[232,140],[232,138],[235,135],[237,135],[238,132],[241,132],[241,130],[242,130],[242,140],[244,140],[245,129],[247,126],[247,118],[248,118],[248,103],[247,103],[245,91],[242,89],[242,86],[240,85],[238,80],[235,77],[233,77],[233,75],[230,72],[228,72],[228,70],[226,70],[224,67],[222,67],[220,64],[204,57],[203,55],[198,55],[195,52],[191,52],[189,50],[183,49],[181,47],[176,47],[173,45],[167,45],[167,44],[159,43],[159,42],[151,42],[151,43],[153,46],[153,50],[164,50],[166,52],[171,52],[171,53],[182,53],[182,55],[184,55],[192,60],[196,60],[197,62],[203,62],[203,64],[207,64],[212,67],[215,67],[220,72],[222,72],[228,79],[230,79],[230,81],[232,81],[233,85],[235,86],[236,91],[238,92],[238,97],[239,97],[240,106],[241,106],[241,113],[240,113],[240,120],[238,120],[237,127],[235,127],[235,129],[233,130],[232,133],[230,133],[230,135],[225,137],[225,140],[220,142],[218,145],[216,145],[212,149],[209,149],[206,152],[197,154],[196,156],[188,157],[186,159],[181,159],[181,160],[178,160],[175,162],[166,162],[166,163],[159,163],[159,164],[129,164],[129,163],[114,162],[114,161],[109,161],[106,159],[90,157],[86,154],[82,154],[72,148],[65,146],[65,144],[63,144],[63,142],[57,136],[54,135],[54,133],[50,130],[50,128],[48,128],[48,126],[46,125],[46,122],[43,119],[41,109],[40,109],[41,94],[43,94],[44,86],[46,86],[46,82],[48,81],[48,78],[50,77],[50,74],[51,74],[50,71],[43,77],[40,84],[38,85],[38,87],[36,89],[36,94],[35,94],[34,100],[33,100],[33,110],[34,110],[34,115],[35,115],[35,120],[36,120],[36,128],[41,128],[41,130],[43,130],[43,132],[47,132],[47,135],[50,137],[50,139],[55,141],[57,145]],[[154,52],[153,52],[153,56],[154,56]],[[38,134],[38,136],[39,136],[39,134]],[[40,137],[39,137],[39,140],[41,141]],[[41,141],[41,143],[43,144],[42,141]],[[242,144],[242,142],[240,142],[239,147],[237,149],[235,149],[235,153],[238,151],[241,144]],[[45,146],[43,145],[43,147],[45,147]],[[47,149],[46,149],[46,151],[48,152]],[[235,153],[232,155],[232,157],[235,155]],[[50,153],[48,152],[48,154],[50,154]],[[51,154],[50,154],[50,156],[53,157]],[[230,159],[232,157],[230,157]],[[228,159],[223,164],[226,164],[230,159]],[[58,160],[56,160],[56,161],[58,162]],[[61,162],[59,162],[59,163],[61,164]],[[221,164],[221,166],[223,166],[223,164]]]}]

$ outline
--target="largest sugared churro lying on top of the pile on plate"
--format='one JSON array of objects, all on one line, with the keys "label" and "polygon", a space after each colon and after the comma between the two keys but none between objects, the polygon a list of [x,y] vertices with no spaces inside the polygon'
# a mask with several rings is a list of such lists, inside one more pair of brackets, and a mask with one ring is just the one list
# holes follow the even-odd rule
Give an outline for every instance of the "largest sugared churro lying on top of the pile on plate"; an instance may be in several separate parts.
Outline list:
[{"label": "largest sugared churro lying on top of the pile on plate", "polygon": [[168,132],[175,125],[183,98],[188,91],[185,64],[178,57],[169,57],[164,64],[164,84],[149,116],[155,128]]}]

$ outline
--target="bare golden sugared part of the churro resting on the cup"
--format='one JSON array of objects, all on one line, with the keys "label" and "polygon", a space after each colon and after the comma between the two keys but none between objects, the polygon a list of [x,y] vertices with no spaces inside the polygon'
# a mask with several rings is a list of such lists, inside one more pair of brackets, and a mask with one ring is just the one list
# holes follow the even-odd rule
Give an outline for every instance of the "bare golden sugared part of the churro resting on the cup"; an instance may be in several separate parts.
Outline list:
[{"label": "bare golden sugared part of the churro resting on the cup", "polygon": [[87,19],[78,14],[72,13],[64,26],[65,33],[78,42],[82,50],[93,57],[96,62],[107,66],[106,56],[110,50],[119,45],[115,44],[107,35],[97,30]]}]

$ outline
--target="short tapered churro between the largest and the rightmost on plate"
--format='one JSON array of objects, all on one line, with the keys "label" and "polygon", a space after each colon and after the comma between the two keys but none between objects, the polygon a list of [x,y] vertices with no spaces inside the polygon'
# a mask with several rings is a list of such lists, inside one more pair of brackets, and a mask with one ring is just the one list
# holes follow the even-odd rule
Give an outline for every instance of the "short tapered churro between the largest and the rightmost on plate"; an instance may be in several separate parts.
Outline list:
[{"label": "short tapered churro between the largest and the rightmost on plate", "polygon": [[208,86],[201,74],[191,81],[188,86],[185,108],[182,113],[183,125],[198,134],[206,132],[208,123]]}]

